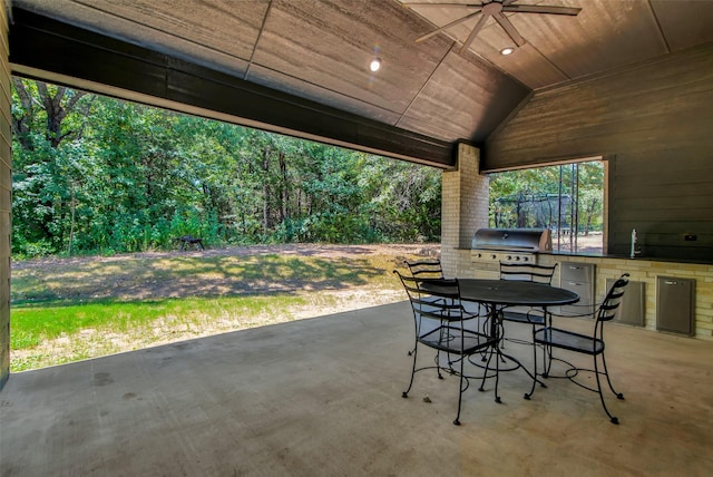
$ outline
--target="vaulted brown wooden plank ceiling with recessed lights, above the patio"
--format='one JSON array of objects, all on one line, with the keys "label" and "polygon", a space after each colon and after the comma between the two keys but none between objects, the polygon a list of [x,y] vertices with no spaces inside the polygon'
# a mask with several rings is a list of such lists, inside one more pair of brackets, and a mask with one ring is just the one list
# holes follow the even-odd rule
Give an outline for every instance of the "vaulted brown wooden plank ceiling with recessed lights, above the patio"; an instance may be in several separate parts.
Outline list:
[{"label": "vaulted brown wooden plank ceiling with recessed lights, above the patio", "polygon": [[[489,19],[461,52],[477,16],[414,40],[473,10],[402,4],[410,1],[12,4],[385,125],[475,144],[482,144],[533,90],[713,41],[713,1],[516,0],[582,11],[576,17],[508,13],[525,45],[507,57],[499,51],[512,40]],[[382,68],[372,74],[368,66],[374,57]]]}]

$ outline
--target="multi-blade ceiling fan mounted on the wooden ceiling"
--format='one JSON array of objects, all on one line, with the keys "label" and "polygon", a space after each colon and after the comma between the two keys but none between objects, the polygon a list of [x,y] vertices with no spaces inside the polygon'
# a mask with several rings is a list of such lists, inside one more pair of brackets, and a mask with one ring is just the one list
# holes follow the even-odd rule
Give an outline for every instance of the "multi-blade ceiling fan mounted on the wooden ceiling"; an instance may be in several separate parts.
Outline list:
[{"label": "multi-blade ceiling fan mounted on the wooden ceiling", "polygon": [[515,26],[508,20],[508,18],[502,13],[546,13],[546,14],[568,14],[568,16],[577,16],[580,8],[576,7],[556,7],[556,6],[545,6],[545,4],[515,4],[517,0],[484,0],[481,3],[427,3],[427,2],[408,2],[403,3],[404,7],[439,7],[439,8],[459,8],[463,10],[475,10],[461,17],[457,20],[451,21],[448,25],[445,25],[430,33],[423,35],[420,38],[417,38],[416,41],[420,42],[431,38],[434,35],[440,33],[443,30],[448,30],[456,25],[460,25],[465,21],[470,20],[471,18],[480,16],[478,22],[470,31],[470,35],[463,42],[463,46],[460,48],[460,51],[465,51],[470,47],[470,43],[476,39],[480,29],[485,26],[488,17],[492,17],[495,21],[502,27],[506,33],[515,41],[518,47],[525,45],[525,38],[517,31]]}]

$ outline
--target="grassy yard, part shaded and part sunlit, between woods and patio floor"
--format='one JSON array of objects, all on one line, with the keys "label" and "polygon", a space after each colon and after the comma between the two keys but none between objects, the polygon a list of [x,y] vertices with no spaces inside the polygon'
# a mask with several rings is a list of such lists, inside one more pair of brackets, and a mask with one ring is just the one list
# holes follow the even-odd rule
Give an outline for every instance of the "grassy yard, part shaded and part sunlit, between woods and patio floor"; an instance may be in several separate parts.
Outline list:
[{"label": "grassy yard, part shaded and part sunlit, between woods and patio floor", "polygon": [[[10,368],[23,371],[400,299],[404,259],[354,254],[13,263]],[[395,296],[395,298],[394,298]],[[363,300],[363,299],[362,299]]]}]

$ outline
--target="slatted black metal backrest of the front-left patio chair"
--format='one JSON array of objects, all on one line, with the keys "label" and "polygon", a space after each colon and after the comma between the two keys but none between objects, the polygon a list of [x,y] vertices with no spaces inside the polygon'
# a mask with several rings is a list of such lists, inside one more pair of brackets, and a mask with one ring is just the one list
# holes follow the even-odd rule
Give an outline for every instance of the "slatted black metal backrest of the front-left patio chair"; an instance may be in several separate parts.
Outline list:
[{"label": "slatted black metal backrest of the front-left patio chair", "polygon": [[409,295],[417,321],[421,318],[432,320],[462,320],[463,308],[460,303],[458,279],[431,279],[406,276],[394,270]]}]

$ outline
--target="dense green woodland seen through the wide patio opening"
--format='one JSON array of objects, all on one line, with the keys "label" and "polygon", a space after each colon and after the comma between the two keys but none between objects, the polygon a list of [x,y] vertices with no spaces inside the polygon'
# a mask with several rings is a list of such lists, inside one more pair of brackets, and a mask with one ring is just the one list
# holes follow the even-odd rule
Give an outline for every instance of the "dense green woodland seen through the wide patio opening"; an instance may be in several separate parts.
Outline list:
[{"label": "dense green woodland seen through the wide patio opening", "polygon": [[165,250],[180,235],[212,245],[439,240],[437,169],[12,82],[16,257]]}]

